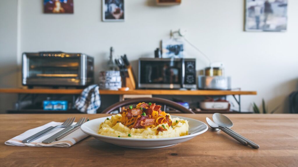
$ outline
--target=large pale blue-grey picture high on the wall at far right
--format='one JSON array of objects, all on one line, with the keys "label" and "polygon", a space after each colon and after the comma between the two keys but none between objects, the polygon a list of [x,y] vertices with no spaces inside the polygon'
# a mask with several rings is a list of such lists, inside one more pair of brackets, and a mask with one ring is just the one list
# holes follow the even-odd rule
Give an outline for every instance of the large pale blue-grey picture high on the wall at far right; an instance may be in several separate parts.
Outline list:
[{"label": "large pale blue-grey picture high on the wall at far right", "polygon": [[246,31],[286,31],[288,0],[245,0]]}]

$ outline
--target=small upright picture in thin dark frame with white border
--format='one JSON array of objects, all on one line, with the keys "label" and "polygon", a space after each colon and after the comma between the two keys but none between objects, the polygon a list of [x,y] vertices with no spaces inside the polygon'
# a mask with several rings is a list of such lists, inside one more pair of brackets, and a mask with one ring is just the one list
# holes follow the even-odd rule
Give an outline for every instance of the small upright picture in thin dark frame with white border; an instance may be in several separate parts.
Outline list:
[{"label": "small upright picture in thin dark frame with white border", "polygon": [[124,0],[102,0],[103,21],[124,21]]}]

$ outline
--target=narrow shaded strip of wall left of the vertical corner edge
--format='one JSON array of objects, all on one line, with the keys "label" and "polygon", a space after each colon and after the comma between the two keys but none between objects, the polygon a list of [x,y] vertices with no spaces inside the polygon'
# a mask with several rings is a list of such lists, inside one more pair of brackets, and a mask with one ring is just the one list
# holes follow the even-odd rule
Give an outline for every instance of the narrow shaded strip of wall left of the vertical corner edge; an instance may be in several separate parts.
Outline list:
[{"label": "narrow shaded strip of wall left of the vertical corner edge", "polygon": [[[17,86],[17,0],[0,1],[0,88]],[[16,95],[0,94],[0,113],[14,107]]]}]

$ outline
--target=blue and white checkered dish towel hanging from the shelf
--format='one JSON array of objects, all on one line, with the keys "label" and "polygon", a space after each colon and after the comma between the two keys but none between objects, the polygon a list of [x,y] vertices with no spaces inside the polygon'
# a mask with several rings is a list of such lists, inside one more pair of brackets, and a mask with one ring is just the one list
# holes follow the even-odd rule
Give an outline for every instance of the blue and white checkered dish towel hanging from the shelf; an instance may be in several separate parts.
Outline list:
[{"label": "blue and white checkered dish towel hanging from the shelf", "polygon": [[96,114],[96,110],[100,107],[100,104],[99,86],[96,84],[85,88],[75,101],[77,110],[87,114]]}]

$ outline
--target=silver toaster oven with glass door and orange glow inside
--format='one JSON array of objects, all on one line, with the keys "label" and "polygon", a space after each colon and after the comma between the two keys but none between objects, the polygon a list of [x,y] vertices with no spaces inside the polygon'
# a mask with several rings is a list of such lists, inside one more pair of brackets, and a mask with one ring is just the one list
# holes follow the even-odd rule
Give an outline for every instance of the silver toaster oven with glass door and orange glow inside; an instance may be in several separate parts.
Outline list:
[{"label": "silver toaster oven with glass door and orange glow inside", "polygon": [[23,53],[22,85],[86,86],[94,83],[94,59],[82,53]]}]

